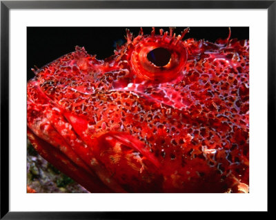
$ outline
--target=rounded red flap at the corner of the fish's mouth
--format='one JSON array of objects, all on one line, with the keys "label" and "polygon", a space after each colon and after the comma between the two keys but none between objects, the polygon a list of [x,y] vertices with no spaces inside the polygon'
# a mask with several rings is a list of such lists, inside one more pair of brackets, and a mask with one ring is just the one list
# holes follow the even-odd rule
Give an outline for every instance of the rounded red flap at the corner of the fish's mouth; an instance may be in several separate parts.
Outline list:
[{"label": "rounded red flap at the corner of the fish's mouth", "polygon": [[143,141],[126,132],[107,132],[95,138],[95,157],[127,192],[160,192],[161,163]]}]

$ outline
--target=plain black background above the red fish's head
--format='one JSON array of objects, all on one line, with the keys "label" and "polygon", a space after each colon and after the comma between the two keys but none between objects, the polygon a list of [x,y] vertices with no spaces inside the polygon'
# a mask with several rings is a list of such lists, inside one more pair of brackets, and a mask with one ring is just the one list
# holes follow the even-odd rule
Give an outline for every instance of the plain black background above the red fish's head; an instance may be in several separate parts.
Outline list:
[{"label": "plain black background above the red fish's head", "polygon": [[[155,27],[164,31],[168,27]],[[180,34],[186,27],[177,27]],[[137,36],[140,27],[128,27]],[[152,28],[144,28],[144,34],[150,34]],[[31,68],[41,68],[55,59],[75,51],[75,46],[86,49],[88,54],[97,54],[97,59],[110,57],[116,42],[126,42],[126,27],[28,27],[27,28],[27,79],[34,77]],[[214,42],[216,39],[228,37],[228,27],[190,27],[184,39],[205,39]],[[248,27],[231,27],[231,39],[249,39]]]}]

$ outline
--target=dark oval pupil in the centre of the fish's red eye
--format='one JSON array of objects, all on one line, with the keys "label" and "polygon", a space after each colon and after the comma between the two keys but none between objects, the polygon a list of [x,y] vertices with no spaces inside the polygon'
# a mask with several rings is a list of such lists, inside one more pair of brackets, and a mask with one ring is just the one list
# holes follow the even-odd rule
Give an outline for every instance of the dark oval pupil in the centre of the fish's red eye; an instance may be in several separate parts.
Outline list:
[{"label": "dark oval pupil in the centre of the fish's red eye", "polygon": [[147,57],[155,66],[166,66],[170,61],[170,52],[165,48],[155,48],[148,53]]}]

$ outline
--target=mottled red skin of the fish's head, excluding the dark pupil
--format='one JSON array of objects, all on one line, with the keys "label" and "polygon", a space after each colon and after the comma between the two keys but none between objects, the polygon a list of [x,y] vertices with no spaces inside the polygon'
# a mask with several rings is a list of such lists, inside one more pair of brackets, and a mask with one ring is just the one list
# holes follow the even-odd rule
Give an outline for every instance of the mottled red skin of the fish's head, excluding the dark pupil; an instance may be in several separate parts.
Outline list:
[{"label": "mottled red skin of the fish's head, excluding the dark pupil", "polygon": [[[247,192],[249,42],[133,38],[108,59],[84,48],[28,81],[34,148],[90,192]],[[155,48],[166,66],[147,59]]]}]

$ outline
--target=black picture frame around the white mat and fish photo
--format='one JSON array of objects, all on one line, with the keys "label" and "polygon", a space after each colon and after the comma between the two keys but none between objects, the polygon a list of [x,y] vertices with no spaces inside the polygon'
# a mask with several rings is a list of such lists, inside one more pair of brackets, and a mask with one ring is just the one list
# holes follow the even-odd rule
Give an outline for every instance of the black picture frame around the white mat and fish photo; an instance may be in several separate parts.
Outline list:
[{"label": "black picture frame around the white mat and fish photo", "polygon": [[[276,1],[1,1],[1,216],[2,219],[137,219],[155,212],[10,212],[9,206],[9,13],[11,9],[187,8],[268,10],[268,147],[275,146]],[[25,82],[24,82],[25,83]],[[268,148],[268,150],[270,150]],[[268,153],[271,156],[271,154]],[[268,159],[271,161],[271,159]],[[269,166],[268,166],[269,168]],[[269,197],[269,193],[268,193]],[[268,212],[270,208],[268,206]],[[267,212],[267,213],[268,213]],[[162,213],[172,219],[171,214]],[[211,212],[200,212],[204,217]],[[182,215],[182,214],[181,214]],[[231,216],[232,214],[230,214]]]}]

